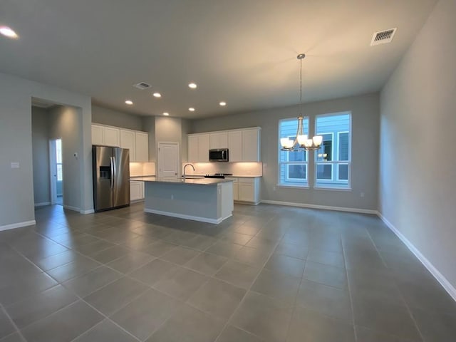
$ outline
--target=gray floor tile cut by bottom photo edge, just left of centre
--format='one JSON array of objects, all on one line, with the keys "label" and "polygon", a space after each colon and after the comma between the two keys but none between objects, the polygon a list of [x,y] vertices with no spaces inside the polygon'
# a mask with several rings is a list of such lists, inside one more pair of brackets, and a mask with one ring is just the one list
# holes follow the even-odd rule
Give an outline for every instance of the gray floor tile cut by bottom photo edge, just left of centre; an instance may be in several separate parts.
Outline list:
[{"label": "gray floor tile cut by bottom photo edge, just left of centre", "polygon": [[147,342],[212,342],[223,326],[223,321],[185,305],[160,326]]}]

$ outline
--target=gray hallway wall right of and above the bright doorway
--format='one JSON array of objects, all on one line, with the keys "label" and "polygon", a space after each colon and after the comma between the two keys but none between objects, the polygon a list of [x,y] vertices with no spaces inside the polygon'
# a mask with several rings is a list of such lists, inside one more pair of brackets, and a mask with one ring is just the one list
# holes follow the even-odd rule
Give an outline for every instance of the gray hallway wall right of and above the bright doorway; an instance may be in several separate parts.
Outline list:
[{"label": "gray hallway wall right of and above the bright doorway", "polygon": [[74,153],[79,154],[81,114],[78,108],[63,105],[51,109],[50,114],[49,138],[62,140],[63,207],[80,209],[80,175]]}]

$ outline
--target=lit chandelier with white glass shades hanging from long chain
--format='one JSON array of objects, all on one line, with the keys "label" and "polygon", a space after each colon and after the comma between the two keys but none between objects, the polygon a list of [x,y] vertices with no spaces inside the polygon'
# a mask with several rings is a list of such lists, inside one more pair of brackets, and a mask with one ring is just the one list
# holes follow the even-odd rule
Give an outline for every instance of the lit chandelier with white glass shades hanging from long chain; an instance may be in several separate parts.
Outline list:
[{"label": "lit chandelier with white glass shades hanging from long chain", "polygon": [[297,151],[297,148],[304,148],[304,150],[318,150],[323,142],[321,135],[315,135],[313,138],[308,138],[303,133],[304,130],[304,117],[302,116],[302,60],[306,57],[304,53],[299,53],[299,116],[298,116],[298,129],[296,130],[296,138],[281,138],[280,145],[282,151]]}]

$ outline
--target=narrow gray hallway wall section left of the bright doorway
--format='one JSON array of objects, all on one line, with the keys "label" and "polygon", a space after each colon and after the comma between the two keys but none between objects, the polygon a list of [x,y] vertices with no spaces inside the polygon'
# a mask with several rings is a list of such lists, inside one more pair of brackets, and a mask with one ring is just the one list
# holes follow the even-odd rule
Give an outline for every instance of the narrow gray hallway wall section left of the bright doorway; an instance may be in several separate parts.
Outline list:
[{"label": "narrow gray hallway wall section left of the bright doorway", "polygon": [[49,113],[31,108],[31,139],[33,155],[33,200],[35,204],[51,202],[49,180]]}]

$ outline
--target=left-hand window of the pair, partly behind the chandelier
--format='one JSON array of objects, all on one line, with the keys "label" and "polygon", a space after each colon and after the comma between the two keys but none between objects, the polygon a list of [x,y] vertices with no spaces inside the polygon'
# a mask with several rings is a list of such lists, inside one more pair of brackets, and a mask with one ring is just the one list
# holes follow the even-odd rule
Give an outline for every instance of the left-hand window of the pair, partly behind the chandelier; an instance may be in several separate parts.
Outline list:
[{"label": "left-hand window of the pair, partly behind the chandelier", "polygon": [[[304,118],[304,134],[309,134],[309,118]],[[280,138],[296,138],[298,120],[296,118],[284,119],[279,121],[279,141]],[[279,143],[279,185],[306,187],[309,185],[307,180],[308,156],[305,150],[299,149],[293,152],[280,150]]]}]

